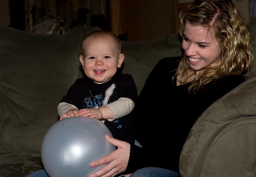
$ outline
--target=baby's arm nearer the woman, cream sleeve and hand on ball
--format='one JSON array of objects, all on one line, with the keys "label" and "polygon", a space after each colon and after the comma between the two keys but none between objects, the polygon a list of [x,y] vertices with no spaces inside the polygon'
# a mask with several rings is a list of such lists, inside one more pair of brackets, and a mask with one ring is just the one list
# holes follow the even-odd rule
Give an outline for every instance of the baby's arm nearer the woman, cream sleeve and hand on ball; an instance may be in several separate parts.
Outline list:
[{"label": "baby's arm nearer the woman, cream sleeve and hand on ball", "polygon": [[129,98],[119,98],[118,100],[102,106],[98,109],[81,109],[79,116],[90,116],[96,119],[108,119],[113,121],[129,114],[134,108],[134,102]]}]

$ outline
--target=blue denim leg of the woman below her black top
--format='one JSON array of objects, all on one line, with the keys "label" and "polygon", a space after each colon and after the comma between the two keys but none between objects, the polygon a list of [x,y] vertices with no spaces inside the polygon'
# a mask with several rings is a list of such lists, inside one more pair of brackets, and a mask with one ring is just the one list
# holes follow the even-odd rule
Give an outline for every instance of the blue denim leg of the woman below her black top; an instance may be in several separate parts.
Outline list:
[{"label": "blue denim leg of the woman below her black top", "polygon": [[179,174],[157,167],[145,167],[133,172],[130,177],[179,177]]}]

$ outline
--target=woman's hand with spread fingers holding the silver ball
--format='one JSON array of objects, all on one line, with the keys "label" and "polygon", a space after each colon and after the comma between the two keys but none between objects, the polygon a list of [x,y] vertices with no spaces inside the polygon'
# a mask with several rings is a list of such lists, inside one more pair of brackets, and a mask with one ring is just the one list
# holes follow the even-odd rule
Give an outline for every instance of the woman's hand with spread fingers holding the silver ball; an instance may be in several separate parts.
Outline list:
[{"label": "woman's hand with spread fingers holding the silver ball", "polygon": [[130,144],[125,141],[111,138],[109,135],[105,135],[105,137],[108,142],[118,148],[111,154],[99,159],[98,161],[92,162],[90,164],[91,167],[108,164],[88,177],[113,177],[124,172],[127,167],[130,157]]}]

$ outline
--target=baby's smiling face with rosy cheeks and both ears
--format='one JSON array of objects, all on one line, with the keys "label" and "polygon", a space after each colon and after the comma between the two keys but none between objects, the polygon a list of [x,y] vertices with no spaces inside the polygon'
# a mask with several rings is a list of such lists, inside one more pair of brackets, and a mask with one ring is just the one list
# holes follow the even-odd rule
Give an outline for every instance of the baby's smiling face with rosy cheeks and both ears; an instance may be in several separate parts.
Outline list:
[{"label": "baby's smiling face with rosy cheeks and both ears", "polygon": [[109,81],[124,59],[123,54],[118,55],[117,45],[110,36],[85,39],[83,51],[80,61],[84,73],[98,84]]}]

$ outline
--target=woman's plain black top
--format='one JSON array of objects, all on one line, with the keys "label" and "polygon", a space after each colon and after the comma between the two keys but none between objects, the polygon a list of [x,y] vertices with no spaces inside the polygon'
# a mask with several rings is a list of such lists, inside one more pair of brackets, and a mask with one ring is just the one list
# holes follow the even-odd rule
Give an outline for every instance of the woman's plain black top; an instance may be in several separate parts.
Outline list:
[{"label": "woman's plain black top", "polygon": [[146,80],[135,104],[136,140],[143,148],[131,145],[126,173],[147,166],[179,172],[180,152],[197,118],[245,81],[242,75],[225,76],[189,94],[189,84],[172,82],[180,59],[160,60]]}]

